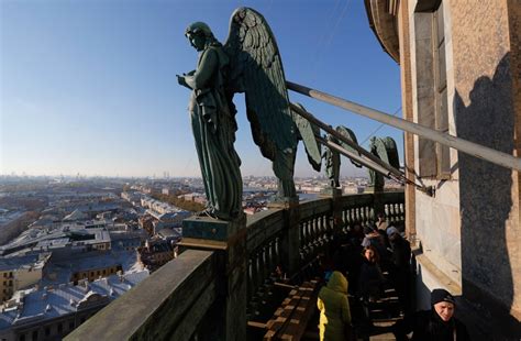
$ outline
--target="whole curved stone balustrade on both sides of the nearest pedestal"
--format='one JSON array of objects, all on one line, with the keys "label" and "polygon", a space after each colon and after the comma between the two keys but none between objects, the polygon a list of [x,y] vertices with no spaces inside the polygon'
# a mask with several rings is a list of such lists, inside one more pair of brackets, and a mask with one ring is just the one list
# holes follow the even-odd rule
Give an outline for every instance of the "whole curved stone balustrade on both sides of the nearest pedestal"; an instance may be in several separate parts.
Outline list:
[{"label": "whole curved stone balustrade on both sides of the nearest pedestal", "polygon": [[[403,223],[403,193],[350,195],[301,202],[289,208],[297,210],[296,215],[288,215],[285,209],[270,209],[248,217],[245,318],[255,317],[256,310],[269,298],[274,282],[284,279],[286,270],[281,265],[288,264],[285,257],[297,257],[299,271],[302,271],[317,262],[319,253],[324,252],[337,233],[374,220],[376,209],[385,211],[390,223]],[[299,223],[290,223],[291,219],[298,219]],[[291,233],[290,229],[298,229],[298,233]],[[291,254],[284,248],[292,245],[288,238],[295,235],[299,239],[298,248]],[[219,305],[217,293],[221,292],[218,278],[224,276],[219,260],[211,251],[181,253],[67,339],[171,339],[177,336],[181,340],[201,333],[208,336],[211,330],[206,319],[219,318],[219,314],[215,315],[219,310],[214,308]],[[287,274],[298,278],[295,275]]]}]

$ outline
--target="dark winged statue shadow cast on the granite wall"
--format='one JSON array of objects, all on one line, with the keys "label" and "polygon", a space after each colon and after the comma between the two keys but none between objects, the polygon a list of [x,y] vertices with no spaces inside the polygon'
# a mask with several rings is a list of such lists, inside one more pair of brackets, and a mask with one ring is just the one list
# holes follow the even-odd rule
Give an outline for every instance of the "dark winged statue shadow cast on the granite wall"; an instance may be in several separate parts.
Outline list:
[{"label": "dark winged statue shadow cast on the granite wall", "polygon": [[[468,107],[457,91],[454,98],[457,135],[511,154],[514,111],[508,53],[492,79],[475,81],[469,97]],[[506,240],[512,170],[464,153],[458,153],[458,163],[463,294],[488,317],[500,314],[501,330],[519,336],[520,323],[509,314],[514,290]]]}]

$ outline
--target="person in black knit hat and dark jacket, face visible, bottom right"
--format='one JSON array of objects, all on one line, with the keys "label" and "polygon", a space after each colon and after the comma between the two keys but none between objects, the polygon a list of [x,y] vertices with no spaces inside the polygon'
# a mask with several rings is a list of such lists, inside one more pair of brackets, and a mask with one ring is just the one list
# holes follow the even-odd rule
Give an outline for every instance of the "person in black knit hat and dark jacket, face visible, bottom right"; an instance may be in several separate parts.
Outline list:
[{"label": "person in black knit hat and dark jacket, face visible, bottom right", "polygon": [[434,289],[431,293],[431,310],[417,311],[392,326],[392,332],[398,341],[411,340],[445,341],[470,340],[465,324],[454,317],[456,301],[445,289]]}]

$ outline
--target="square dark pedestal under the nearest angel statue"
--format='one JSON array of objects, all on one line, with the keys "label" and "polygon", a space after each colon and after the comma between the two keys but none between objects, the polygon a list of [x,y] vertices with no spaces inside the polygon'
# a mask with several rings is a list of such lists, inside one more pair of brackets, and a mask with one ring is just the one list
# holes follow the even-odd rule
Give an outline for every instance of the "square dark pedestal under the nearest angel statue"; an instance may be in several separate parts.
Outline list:
[{"label": "square dark pedestal under the nearest angel statue", "polygon": [[246,216],[233,221],[191,217],[182,221],[179,245],[210,250],[217,254],[218,298],[208,312],[208,338],[202,340],[246,340]]}]

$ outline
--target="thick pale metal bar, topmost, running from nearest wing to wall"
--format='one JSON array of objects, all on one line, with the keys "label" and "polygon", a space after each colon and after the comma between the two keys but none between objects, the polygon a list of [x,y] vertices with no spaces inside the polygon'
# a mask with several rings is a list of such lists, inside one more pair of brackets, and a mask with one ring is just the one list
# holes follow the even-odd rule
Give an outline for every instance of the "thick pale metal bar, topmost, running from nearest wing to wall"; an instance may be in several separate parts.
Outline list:
[{"label": "thick pale metal bar, topmost, running from nearest wing to wall", "polygon": [[[434,129],[413,123],[403,119],[399,119],[392,116],[389,116],[383,111],[378,111],[375,109],[370,109],[364,107],[362,105],[357,105],[355,102],[334,97],[328,95],[325,92],[321,92],[291,81],[286,81],[288,89],[293,90],[296,92],[309,96],[311,98],[321,100],[323,102],[333,105],[335,107],[362,114],[369,119],[386,123],[388,125],[392,125],[400,130],[413,133],[415,135],[422,136],[428,140],[432,140],[434,142],[441,143],[443,145],[453,147],[459,152],[466,153],[468,155],[473,155],[475,157],[491,162],[494,164],[503,166],[506,168],[521,170],[521,158],[512,156],[510,154],[499,152],[487,146],[483,146],[480,144],[469,142],[447,133],[439,132]],[[293,109],[293,108],[291,108]]]}]

